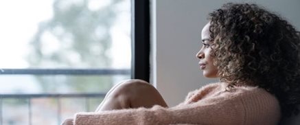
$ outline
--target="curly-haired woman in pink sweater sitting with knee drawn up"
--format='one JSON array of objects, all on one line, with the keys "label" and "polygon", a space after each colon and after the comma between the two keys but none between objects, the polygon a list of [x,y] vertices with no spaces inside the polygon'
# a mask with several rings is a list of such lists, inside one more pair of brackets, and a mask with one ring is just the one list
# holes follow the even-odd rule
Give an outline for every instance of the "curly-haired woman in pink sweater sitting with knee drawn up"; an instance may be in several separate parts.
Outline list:
[{"label": "curly-haired woman in pink sweater sitting with knee drawn up", "polygon": [[255,4],[227,3],[209,14],[201,36],[200,69],[220,82],[168,108],[154,87],[129,80],[111,89],[97,111],[65,124],[272,125],[297,115],[300,36],[292,25]]}]

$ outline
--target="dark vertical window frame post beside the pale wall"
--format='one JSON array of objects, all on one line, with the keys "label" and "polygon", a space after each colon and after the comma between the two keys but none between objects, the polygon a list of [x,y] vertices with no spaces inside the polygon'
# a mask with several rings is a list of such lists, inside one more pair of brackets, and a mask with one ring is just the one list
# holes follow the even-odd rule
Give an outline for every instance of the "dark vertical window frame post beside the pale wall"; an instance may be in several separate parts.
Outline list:
[{"label": "dark vertical window frame post beside the pale wall", "polygon": [[150,76],[150,4],[132,0],[132,67],[131,77],[146,80]]}]

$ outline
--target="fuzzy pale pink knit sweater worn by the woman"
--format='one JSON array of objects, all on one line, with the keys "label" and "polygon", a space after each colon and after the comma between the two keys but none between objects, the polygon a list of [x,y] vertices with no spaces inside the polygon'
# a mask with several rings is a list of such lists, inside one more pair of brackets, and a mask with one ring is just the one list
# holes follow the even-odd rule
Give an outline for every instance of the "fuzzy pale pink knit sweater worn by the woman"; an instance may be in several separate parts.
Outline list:
[{"label": "fuzzy pale pink knit sweater worn by the woman", "polygon": [[279,102],[259,87],[226,89],[224,83],[208,84],[190,92],[177,106],[77,113],[75,125],[123,124],[222,124],[275,125],[280,119]]}]

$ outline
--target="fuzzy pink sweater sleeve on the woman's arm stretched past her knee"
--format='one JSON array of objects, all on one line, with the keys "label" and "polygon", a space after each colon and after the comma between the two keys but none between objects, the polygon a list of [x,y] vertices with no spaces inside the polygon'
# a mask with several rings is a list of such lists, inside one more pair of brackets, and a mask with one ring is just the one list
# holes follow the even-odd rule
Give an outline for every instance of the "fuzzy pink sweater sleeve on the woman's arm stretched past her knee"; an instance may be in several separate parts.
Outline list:
[{"label": "fuzzy pink sweater sleeve on the woman's arm stretched past her knee", "polygon": [[209,98],[192,104],[151,109],[122,109],[97,113],[77,113],[76,125],[119,124],[242,124],[240,98]]}]

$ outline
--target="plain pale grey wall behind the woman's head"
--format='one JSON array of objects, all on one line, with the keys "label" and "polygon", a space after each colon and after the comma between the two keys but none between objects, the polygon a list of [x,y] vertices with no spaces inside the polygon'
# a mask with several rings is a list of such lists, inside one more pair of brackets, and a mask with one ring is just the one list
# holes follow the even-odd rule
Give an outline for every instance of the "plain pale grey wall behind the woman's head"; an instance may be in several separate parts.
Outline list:
[{"label": "plain pale grey wall behind the woman's head", "polygon": [[[166,102],[182,102],[188,91],[218,81],[203,78],[196,52],[200,48],[200,31],[207,14],[227,1],[153,0],[152,1],[152,83]],[[300,29],[299,0],[257,0],[271,11],[286,17]]]}]

